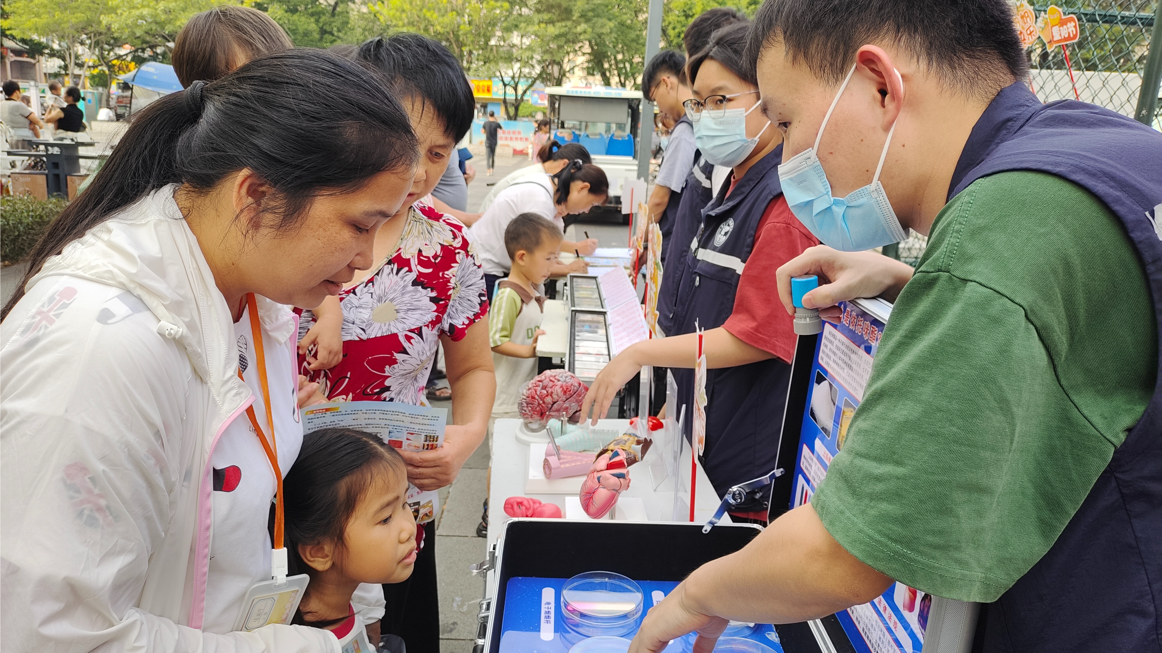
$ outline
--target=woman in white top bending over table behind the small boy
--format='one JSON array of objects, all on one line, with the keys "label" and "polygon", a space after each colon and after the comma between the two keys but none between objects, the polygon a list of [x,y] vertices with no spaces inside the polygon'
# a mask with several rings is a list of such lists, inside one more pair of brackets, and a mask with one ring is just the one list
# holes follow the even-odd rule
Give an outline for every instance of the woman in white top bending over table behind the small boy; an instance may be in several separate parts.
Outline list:
[{"label": "woman in white top bending over table behind the small boy", "polygon": [[[535,213],[552,221],[565,232],[565,216],[586,213],[609,198],[609,179],[605,171],[583,163],[581,159],[567,162],[555,174],[530,174],[502,191],[496,201],[485,211],[480,221],[468,230],[476,245],[480,265],[485,268],[488,296],[498,279],[508,274],[512,261],[504,249],[504,229],[522,213]],[[595,239],[580,243],[561,241],[561,251],[578,251],[591,254],[597,249]],[[578,259],[568,265],[554,264],[553,275],[586,272],[584,261]]]}]

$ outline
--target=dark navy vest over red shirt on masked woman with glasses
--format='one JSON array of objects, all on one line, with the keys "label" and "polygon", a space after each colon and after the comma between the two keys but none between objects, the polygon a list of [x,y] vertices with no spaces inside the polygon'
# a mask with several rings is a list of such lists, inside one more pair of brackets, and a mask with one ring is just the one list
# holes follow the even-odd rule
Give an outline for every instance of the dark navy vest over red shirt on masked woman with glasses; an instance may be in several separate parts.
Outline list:
[{"label": "dark navy vest over red shirt on masked woman with glasses", "polygon": [[[754,247],[762,214],[782,193],[779,145],[762,157],[726,196],[723,184],[702,210],[696,247],[688,250],[688,267],[679,281],[674,333],[691,333],[722,326],[734,310],[738,281]],[[676,243],[676,241],[675,241]],[[689,243],[689,241],[688,241]],[[687,406],[686,432],[690,432],[694,371],[673,369],[679,399]],[[772,358],[738,367],[710,369],[706,375],[706,446],[702,466],[719,496],[731,486],[749,481],[775,468],[779,431],[790,379],[790,366]],[[758,510],[743,505],[739,510]]]}]

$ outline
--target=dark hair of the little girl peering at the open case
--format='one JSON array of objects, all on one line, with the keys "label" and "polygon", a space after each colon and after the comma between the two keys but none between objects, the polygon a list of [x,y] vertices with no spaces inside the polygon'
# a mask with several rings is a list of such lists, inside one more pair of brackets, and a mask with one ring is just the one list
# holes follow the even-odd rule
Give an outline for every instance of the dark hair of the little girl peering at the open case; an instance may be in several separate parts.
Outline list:
[{"label": "dark hair of the little girl peering at the open case", "polygon": [[[378,436],[356,429],[318,429],[302,437],[299,458],[282,480],[287,573],[311,574],[299,546],[343,544],[347,522],[378,479],[407,479],[397,451]],[[272,510],[273,515],[273,510]],[[273,522],[271,522],[273,530]],[[273,536],[272,536],[273,537]],[[310,591],[308,586],[307,591]],[[295,624],[327,627],[344,618],[313,620],[296,611]]]}]

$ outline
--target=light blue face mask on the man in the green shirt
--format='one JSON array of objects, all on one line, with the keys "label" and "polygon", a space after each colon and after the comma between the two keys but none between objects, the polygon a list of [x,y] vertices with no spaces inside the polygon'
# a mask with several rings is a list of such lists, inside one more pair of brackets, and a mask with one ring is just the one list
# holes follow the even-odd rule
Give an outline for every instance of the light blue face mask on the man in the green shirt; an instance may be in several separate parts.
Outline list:
[{"label": "light blue face mask on the man in the green shirt", "polygon": [[[779,166],[779,180],[783,186],[783,196],[790,206],[791,213],[803,223],[815,237],[829,247],[834,247],[845,252],[858,252],[898,243],[904,239],[904,228],[896,217],[896,211],[891,209],[888,194],[880,184],[880,171],[883,168],[883,159],[888,156],[888,145],[891,144],[891,134],[896,130],[896,123],[888,130],[888,142],[883,144],[883,152],[880,153],[880,164],[876,165],[875,175],[871,184],[853,191],[846,198],[832,198],[831,184],[823,172],[823,164],[819,162],[816,150],[819,148],[819,138],[823,137],[823,129],[827,127],[831,112],[835,109],[840,95],[847,88],[847,82],[852,80],[855,66],[847,73],[839,93],[831,101],[831,108],[819,125],[819,135],[815,137],[815,145],[810,150],[804,150],[791,160]],[[896,73],[899,74],[898,72]],[[897,119],[898,120],[898,119]]]}]

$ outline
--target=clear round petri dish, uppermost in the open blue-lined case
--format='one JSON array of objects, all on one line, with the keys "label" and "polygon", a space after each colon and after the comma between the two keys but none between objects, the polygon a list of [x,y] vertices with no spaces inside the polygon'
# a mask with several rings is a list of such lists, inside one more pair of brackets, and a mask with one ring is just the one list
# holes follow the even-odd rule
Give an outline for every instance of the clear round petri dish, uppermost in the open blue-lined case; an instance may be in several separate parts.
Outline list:
[{"label": "clear round petri dish, uppermost in the open blue-lined case", "polygon": [[638,630],[644,594],[622,574],[586,572],[565,581],[561,616],[571,631],[595,637],[625,637]]}]

